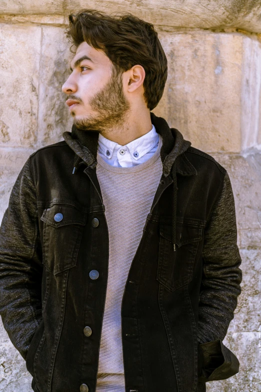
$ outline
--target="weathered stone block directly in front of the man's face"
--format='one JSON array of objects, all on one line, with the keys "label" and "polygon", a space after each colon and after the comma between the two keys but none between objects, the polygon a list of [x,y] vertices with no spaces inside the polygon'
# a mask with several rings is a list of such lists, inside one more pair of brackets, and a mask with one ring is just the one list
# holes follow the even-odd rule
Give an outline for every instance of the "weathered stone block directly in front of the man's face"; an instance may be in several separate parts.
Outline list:
[{"label": "weathered stone block directly in front of the man's face", "polygon": [[63,140],[62,133],[71,131],[73,119],[65,104],[61,87],[70,71],[73,54],[65,38],[64,29],[42,28],[41,64],[39,80],[38,146]]}]

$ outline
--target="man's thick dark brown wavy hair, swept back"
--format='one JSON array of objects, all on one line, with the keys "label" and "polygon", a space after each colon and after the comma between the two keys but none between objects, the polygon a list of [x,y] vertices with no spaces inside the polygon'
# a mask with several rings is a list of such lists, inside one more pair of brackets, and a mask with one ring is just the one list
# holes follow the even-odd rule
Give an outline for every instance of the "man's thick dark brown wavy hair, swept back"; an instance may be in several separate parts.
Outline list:
[{"label": "man's thick dark brown wavy hair, swept back", "polygon": [[[73,44],[70,52],[86,42],[100,49],[113,64],[117,75],[134,65],[145,70],[144,100],[149,110],[160,101],[167,78],[167,59],[152,24],[131,15],[106,15],[83,9],[68,16],[65,34]],[[75,50],[71,50],[72,47]]]}]

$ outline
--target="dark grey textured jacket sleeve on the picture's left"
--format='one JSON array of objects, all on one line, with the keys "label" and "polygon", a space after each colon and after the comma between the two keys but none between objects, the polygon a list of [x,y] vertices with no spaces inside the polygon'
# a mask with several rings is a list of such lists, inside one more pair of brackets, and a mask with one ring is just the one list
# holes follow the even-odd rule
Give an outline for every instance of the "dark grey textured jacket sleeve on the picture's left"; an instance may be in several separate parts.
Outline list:
[{"label": "dark grey textured jacket sleeve on the picture's left", "polygon": [[11,190],[0,226],[0,315],[25,359],[41,315],[41,243],[30,158]]}]

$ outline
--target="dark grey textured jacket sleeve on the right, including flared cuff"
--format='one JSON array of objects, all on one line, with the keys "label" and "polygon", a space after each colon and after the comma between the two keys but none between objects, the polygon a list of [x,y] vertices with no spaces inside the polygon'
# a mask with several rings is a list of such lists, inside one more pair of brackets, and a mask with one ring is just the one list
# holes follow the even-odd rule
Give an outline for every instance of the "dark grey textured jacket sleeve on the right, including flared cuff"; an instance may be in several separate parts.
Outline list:
[{"label": "dark grey textured jacket sleeve on the right, including flared cuff", "polygon": [[[204,230],[198,342],[204,357],[205,380],[223,379],[238,372],[237,358],[222,343],[241,292],[241,258],[236,239],[234,199],[226,173]],[[216,367],[223,373],[212,373]],[[225,367],[230,367],[230,373],[226,373]]]}]

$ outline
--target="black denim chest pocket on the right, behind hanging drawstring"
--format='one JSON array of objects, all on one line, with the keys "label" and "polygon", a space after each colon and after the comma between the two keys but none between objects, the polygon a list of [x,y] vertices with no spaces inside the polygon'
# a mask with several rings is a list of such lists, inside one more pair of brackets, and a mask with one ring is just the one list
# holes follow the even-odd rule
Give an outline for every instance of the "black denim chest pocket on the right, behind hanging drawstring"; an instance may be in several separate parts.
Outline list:
[{"label": "black denim chest pocket on the right, behind hanging drawstring", "polygon": [[173,250],[171,223],[159,223],[159,253],[156,279],[170,291],[189,283],[203,224],[197,219],[176,222],[176,245]]}]

